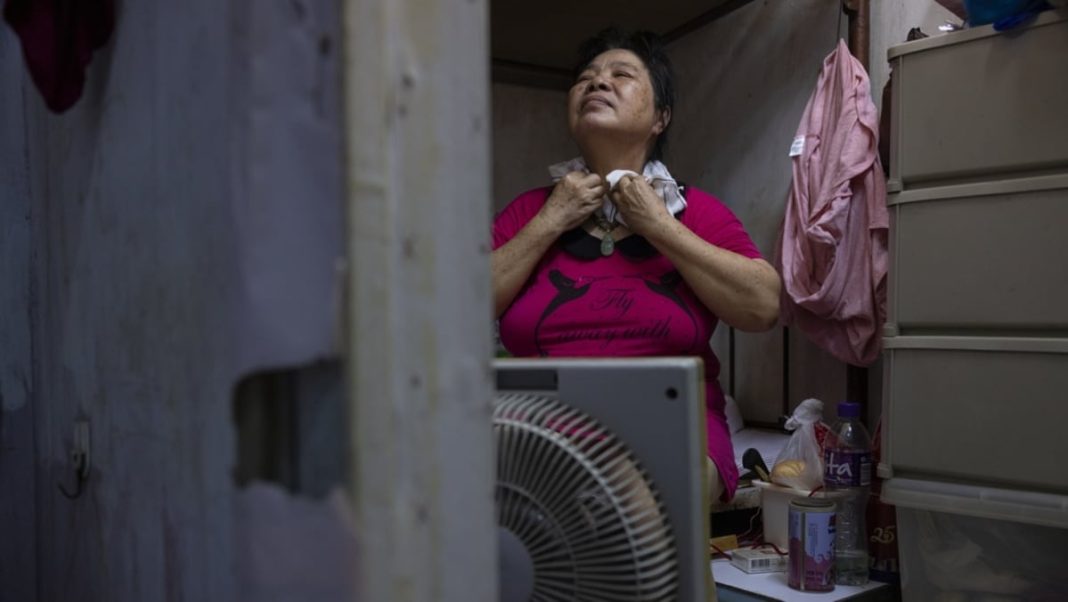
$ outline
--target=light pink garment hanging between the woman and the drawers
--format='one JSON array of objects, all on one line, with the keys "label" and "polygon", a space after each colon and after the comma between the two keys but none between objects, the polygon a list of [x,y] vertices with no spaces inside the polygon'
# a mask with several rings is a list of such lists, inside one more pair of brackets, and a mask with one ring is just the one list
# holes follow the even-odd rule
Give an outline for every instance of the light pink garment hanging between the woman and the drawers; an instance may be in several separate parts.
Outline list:
[{"label": "light pink garment hanging between the woman and the drawers", "polygon": [[879,357],[886,316],[886,180],[869,86],[839,41],[790,148],[794,181],[776,253],[784,323],[859,366]]}]

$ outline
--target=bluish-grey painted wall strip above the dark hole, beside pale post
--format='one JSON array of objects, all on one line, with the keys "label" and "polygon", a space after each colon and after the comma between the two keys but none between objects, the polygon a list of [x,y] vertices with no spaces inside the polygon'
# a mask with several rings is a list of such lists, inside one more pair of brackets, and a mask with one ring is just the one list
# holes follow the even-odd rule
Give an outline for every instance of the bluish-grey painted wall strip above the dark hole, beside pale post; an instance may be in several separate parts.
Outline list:
[{"label": "bluish-grey painted wall strip above the dark hole, beside pale post", "polygon": [[231,4],[230,210],[247,373],[341,344],[341,3]]}]

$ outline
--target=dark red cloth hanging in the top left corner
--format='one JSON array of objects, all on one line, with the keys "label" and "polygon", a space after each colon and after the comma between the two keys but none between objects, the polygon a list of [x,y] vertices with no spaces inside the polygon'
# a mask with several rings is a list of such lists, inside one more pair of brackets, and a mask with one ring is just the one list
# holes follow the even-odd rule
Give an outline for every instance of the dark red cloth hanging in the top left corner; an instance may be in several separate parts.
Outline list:
[{"label": "dark red cloth hanging in the top left corner", "polygon": [[45,105],[57,113],[69,109],[81,97],[93,51],[111,36],[113,0],[7,0],[3,16]]}]

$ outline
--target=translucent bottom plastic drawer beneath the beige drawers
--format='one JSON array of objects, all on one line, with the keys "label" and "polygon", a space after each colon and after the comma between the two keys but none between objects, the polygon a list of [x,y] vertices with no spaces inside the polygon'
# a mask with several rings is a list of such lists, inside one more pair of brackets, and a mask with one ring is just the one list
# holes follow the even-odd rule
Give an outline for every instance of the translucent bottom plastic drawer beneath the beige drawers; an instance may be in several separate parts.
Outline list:
[{"label": "translucent bottom plastic drawer beneath the beige drawers", "polygon": [[891,479],[901,596],[930,600],[1064,600],[1068,497]]}]

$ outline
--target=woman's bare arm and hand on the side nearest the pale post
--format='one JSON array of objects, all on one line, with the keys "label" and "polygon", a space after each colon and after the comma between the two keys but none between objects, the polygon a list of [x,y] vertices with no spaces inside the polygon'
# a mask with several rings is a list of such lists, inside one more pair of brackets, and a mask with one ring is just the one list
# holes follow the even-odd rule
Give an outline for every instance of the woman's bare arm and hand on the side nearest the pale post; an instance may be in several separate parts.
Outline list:
[{"label": "woman's bare arm and hand on the side nearest the pale post", "polygon": [[537,215],[490,254],[494,317],[501,317],[508,308],[541,255],[560,235],[584,222],[601,206],[604,192],[604,183],[597,174],[567,174],[556,183]]}]

